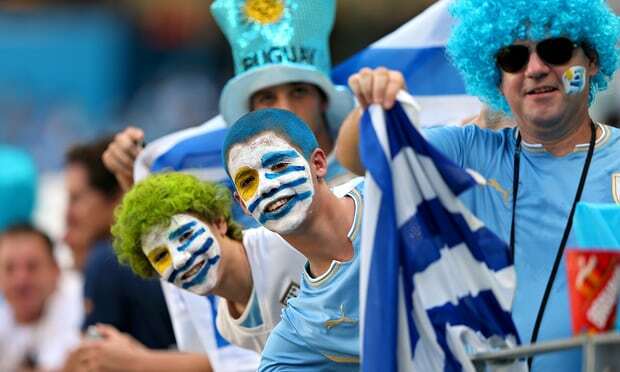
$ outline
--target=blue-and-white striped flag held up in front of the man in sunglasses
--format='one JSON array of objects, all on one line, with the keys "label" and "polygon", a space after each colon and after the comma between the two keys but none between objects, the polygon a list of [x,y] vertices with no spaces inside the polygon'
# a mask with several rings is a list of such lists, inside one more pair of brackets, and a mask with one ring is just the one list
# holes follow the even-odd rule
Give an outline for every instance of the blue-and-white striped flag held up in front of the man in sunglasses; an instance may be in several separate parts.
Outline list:
[{"label": "blue-and-white striped flag held up in front of the man in sunglasses", "polygon": [[411,96],[398,99],[387,112],[372,106],[360,127],[363,370],[473,371],[471,352],[519,342],[514,267],[457,199],[484,180],[429,145]]}]

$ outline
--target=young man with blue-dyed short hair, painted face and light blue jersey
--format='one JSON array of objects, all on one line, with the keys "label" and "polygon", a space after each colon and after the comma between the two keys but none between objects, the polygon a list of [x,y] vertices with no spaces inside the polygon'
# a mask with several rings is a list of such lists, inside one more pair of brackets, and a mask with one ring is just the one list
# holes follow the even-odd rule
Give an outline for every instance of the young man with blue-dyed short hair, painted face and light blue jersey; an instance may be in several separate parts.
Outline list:
[{"label": "young man with blue-dyed short hair, painted face and light blue jersey", "polygon": [[333,194],[325,153],[284,110],[242,117],[222,154],[247,211],[308,259],[300,294],[283,310],[260,370],[359,369],[361,185],[345,197]]}]

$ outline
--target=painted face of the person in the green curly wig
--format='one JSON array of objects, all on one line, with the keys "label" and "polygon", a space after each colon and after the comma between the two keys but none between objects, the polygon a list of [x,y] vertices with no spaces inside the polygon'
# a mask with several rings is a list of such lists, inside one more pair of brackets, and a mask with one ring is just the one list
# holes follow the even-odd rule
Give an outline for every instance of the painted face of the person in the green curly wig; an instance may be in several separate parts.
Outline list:
[{"label": "painted face of the person in the green curly wig", "polygon": [[209,226],[190,214],[143,234],[142,252],[162,279],[190,292],[205,295],[218,280],[220,246]]}]

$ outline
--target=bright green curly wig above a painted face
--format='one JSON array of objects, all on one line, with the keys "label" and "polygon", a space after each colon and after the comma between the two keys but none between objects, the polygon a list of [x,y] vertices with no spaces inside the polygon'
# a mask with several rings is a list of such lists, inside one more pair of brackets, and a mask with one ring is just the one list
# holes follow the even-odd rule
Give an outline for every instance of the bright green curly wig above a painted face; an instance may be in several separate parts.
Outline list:
[{"label": "bright green curly wig above a painted face", "polygon": [[208,223],[223,219],[226,235],[241,241],[241,227],[230,212],[231,197],[222,185],[184,173],[154,174],[137,183],[115,210],[113,245],[119,262],[143,278],[158,274],[142,252],[141,238],[155,226],[167,226],[175,214],[195,212]]}]

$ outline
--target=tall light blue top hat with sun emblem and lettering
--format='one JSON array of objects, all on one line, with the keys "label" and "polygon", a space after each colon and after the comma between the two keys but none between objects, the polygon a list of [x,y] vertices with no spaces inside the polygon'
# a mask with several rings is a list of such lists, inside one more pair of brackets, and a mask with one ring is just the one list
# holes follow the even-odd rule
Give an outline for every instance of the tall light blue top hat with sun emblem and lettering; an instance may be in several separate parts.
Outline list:
[{"label": "tall light blue top hat with sun emblem and lettering", "polygon": [[327,96],[327,122],[337,133],[353,108],[346,87],[329,78],[329,34],[335,0],[216,0],[211,12],[231,45],[235,77],[224,87],[220,112],[232,125],[250,110],[250,96],[274,85],[305,82]]}]

